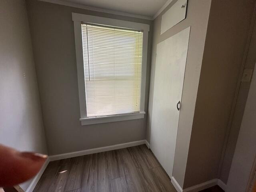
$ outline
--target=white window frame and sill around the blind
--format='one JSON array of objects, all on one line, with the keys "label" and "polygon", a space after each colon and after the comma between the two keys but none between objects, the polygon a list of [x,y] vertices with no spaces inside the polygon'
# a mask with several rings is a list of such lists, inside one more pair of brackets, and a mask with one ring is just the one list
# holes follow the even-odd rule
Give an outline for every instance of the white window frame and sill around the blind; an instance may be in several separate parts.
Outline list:
[{"label": "white window frame and sill around the blind", "polygon": [[[136,22],[130,22],[130,21],[124,21],[124,20],[92,16],[92,15],[78,14],[78,13],[72,13],[72,20],[74,22],[74,34],[75,34],[75,44],[76,44],[76,68],[77,68],[77,78],[78,78],[81,124],[89,125],[89,124],[98,124],[98,123],[116,122],[116,121],[125,121],[125,120],[144,118],[144,114],[146,114],[144,110],[145,110],[146,67],[147,67],[147,55],[148,55],[149,25],[143,24],[143,23],[136,23]],[[129,28],[129,29],[143,31],[140,112],[133,113],[133,114],[120,114],[120,115],[87,118],[81,22],[100,24],[100,25],[106,25],[106,26],[115,26],[120,28]]]}]

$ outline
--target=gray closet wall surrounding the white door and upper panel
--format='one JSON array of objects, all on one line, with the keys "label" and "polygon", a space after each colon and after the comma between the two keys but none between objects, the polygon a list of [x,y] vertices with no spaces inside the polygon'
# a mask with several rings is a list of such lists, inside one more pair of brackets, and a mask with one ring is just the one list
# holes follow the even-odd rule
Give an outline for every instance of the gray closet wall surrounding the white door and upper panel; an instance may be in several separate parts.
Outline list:
[{"label": "gray closet wall surrounding the white door and upper panel", "polygon": [[186,161],[192,122],[194,117],[194,108],[196,104],[196,94],[200,77],[200,69],[203,58],[204,42],[210,12],[211,0],[189,0],[187,17],[185,20],[170,28],[164,34],[160,35],[161,16],[177,0],[173,0],[170,5],[154,20],[153,46],[152,46],[152,66],[150,78],[150,99],[148,104],[148,126],[147,140],[150,140],[150,126],[152,115],[152,99],[154,94],[154,73],[156,59],[156,45],[159,42],[173,36],[181,30],[191,26],[190,40],[188,45],[188,56],[184,77],[184,87],[182,94],[182,109],[180,111],[180,121],[178,126],[178,135],[176,142],[176,151],[174,158],[173,176],[183,186]]}]

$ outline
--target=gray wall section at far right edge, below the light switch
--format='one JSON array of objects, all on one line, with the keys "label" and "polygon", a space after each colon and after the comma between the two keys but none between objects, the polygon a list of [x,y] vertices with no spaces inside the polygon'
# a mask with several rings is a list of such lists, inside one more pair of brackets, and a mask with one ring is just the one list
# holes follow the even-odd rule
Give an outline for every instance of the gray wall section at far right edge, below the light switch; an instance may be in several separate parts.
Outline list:
[{"label": "gray wall section at far right edge, below the light switch", "polygon": [[[249,184],[250,174],[255,173],[256,157],[256,69],[244,110],[244,116],[236,144],[234,158],[228,177],[227,192],[244,192]],[[254,170],[252,170],[254,168]]]}]

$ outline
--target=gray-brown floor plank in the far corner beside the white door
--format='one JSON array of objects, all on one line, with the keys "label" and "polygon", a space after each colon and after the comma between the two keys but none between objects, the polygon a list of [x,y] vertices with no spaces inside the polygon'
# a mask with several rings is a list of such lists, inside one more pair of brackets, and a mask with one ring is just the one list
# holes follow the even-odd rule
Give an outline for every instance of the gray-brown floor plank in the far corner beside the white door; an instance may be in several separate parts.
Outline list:
[{"label": "gray-brown floor plank in the far corner beside the white door", "polygon": [[154,156],[153,152],[150,149],[148,149],[148,147],[145,144],[138,146],[138,149],[140,150],[140,154],[142,154],[143,160],[145,161],[148,168],[151,169],[160,166],[160,163]]}]

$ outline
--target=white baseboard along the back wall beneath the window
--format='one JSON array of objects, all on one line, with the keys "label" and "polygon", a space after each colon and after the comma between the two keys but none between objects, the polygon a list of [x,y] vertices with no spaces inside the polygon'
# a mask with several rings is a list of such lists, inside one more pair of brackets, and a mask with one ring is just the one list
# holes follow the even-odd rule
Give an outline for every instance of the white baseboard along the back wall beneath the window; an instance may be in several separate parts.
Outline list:
[{"label": "white baseboard along the back wall beneath the window", "polygon": [[99,147],[99,148],[93,148],[93,149],[87,149],[87,150],[82,150],[82,151],[52,155],[52,156],[49,156],[49,158],[50,158],[50,161],[55,161],[55,160],[78,157],[78,156],[83,156],[83,155],[88,155],[88,154],[93,154],[93,153],[99,153],[99,152],[104,152],[104,151],[122,149],[122,148],[142,145],[142,144],[147,145],[146,140],[133,141],[133,142],[128,142],[128,143],[121,143],[121,144],[110,145],[110,146]]}]

